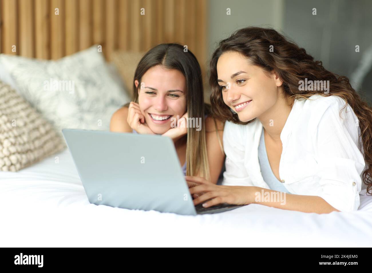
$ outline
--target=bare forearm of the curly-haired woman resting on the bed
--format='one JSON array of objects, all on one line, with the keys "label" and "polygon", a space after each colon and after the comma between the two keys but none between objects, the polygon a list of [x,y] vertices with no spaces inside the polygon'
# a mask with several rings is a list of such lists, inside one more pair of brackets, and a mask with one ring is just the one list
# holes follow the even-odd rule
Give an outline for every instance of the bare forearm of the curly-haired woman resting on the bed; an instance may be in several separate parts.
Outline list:
[{"label": "bare forearm of the curly-haired woman resting on the bed", "polygon": [[254,204],[291,211],[315,212],[318,214],[339,211],[320,196],[297,195],[278,192],[272,189],[254,187]]}]

